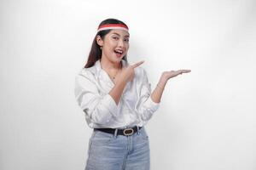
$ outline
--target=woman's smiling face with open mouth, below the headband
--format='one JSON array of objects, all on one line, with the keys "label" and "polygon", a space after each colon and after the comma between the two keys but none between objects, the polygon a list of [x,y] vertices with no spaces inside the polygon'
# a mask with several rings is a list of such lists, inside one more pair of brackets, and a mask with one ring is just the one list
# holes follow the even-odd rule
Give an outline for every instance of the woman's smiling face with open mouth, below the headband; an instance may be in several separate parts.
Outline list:
[{"label": "woman's smiling face with open mouth, below the headband", "polygon": [[129,33],[114,29],[102,39],[97,37],[97,43],[102,46],[102,57],[110,62],[119,63],[129,49]]}]

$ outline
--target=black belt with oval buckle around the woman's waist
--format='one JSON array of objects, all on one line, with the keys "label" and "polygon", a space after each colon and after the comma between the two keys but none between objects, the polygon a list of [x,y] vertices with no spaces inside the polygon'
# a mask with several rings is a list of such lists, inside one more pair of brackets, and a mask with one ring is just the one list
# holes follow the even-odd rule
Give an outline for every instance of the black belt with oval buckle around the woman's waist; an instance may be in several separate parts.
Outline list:
[{"label": "black belt with oval buckle around the woman's waist", "polygon": [[[131,136],[133,133],[137,133],[138,129],[141,129],[142,127],[130,127],[125,129],[117,129],[117,135],[125,135],[125,136]],[[114,134],[116,128],[95,128],[94,130],[99,130],[104,133],[111,133]]]}]

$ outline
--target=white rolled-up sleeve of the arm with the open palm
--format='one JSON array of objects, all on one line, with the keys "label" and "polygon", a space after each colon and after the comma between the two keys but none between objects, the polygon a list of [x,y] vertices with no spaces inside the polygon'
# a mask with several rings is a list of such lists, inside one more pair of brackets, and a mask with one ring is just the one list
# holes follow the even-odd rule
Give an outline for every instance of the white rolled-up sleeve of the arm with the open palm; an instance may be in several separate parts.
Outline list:
[{"label": "white rolled-up sleeve of the arm with the open palm", "polygon": [[143,121],[148,121],[154,112],[158,110],[160,103],[155,103],[150,97],[151,84],[148,82],[147,72],[142,68],[140,74],[142,84],[138,90],[139,99],[137,100],[136,110]]}]

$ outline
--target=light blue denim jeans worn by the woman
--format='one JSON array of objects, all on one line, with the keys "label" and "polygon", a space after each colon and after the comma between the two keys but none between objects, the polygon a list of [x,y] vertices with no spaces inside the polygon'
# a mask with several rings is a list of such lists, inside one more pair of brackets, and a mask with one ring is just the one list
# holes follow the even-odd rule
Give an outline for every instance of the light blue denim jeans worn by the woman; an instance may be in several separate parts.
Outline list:
[{"label": "light blue denim jeans worn by the woman", "polygon": [[144,127],[131,136],[93,131],[85,170],[149,170],[149,155]]}]

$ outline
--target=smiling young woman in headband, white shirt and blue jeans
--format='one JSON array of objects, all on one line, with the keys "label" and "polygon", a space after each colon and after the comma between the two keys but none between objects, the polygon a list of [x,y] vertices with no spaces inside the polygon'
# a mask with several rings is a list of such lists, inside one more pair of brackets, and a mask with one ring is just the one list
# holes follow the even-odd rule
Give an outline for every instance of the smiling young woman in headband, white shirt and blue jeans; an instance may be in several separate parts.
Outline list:
[{"label": "smiling young woman in headband, white shirt and blue jeans", "polygon": [[129,30],[124,22],[103,20],[89,58],[75,82],[75,97],[93,128],[86,170],[148,170],[144,125],[159,108],[166,82],[189,70],[165,71],[151,94],[143,61],[129,65]]}]

